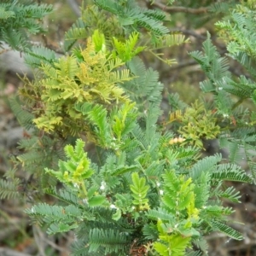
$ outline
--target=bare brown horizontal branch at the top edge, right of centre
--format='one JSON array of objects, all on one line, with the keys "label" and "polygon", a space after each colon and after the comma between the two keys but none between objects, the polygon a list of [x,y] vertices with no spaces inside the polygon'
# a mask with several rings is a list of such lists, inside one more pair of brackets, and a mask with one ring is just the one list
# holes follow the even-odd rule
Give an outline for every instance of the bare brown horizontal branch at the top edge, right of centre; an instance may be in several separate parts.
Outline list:
[{"label": "bare brown horizontal branch at the top edge, right of centre", "polygon": [[192,15],[199,15],[207,13],[208,9],[205,7],[201,7],[199,9],[187,8],[182,6],[172,6],[168,7],[162,3],[152,3],[152,6],[157,7],[167,13],[187,13]]}]

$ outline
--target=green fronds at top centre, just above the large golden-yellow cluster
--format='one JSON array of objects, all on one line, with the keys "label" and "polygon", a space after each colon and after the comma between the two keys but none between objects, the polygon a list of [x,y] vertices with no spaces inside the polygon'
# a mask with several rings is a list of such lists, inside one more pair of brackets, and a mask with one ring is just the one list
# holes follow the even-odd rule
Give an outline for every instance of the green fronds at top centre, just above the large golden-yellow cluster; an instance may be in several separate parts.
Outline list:
[{"label": "green fronds at top centre, just above the large golden-yellow cluster", "polygon": [[[169,33],[165,26],[160,25],[166,19],[164,12],[140,9],[135,1],[123,3],[125,6],[113,1],[105,2],[98,1],[96,5],[82,9],[81,18],[66,33],[65,51],[69,51],[78,42],[83,44],[81,39],[92,36],[98,30],[104,34],[107,48],[117,52],[122,61],[130,61],[145,49],[168,65],[176,63],[175,60],[163,59],[156,50],[188,43],[189,40],[180,33]],[[110,9],[113,15],[109,15]],[[150,33],[138,36],[137,26],[146,27]],[[124,28],[125,38],[128,38],[125,42]]]}]

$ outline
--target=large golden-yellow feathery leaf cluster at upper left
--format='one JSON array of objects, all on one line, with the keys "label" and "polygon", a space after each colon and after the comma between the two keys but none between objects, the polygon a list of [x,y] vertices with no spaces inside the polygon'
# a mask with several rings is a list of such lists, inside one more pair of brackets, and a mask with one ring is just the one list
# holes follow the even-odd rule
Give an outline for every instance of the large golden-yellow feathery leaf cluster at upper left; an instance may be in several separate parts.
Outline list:
[{"label": "large golden-yellow feathery leaf cluster at upper left", "polygon": [[[83,117],[73,105],[76,102],[93,102],[110,107],[113,102],[129,102],[119,84],[131,80],[130,72],[123,67],[118,56],[105,50],[104,37],[95,32],[88,38],[86,49],[75,49],[73,55],[61,57],[53,65],[44,64],[45,79],[41,84],[40,98],[43,107],[34,123],[44,131],[59,131],[66,137],[88,129]],[[39,104],[39,103],[38,103]]]}]

